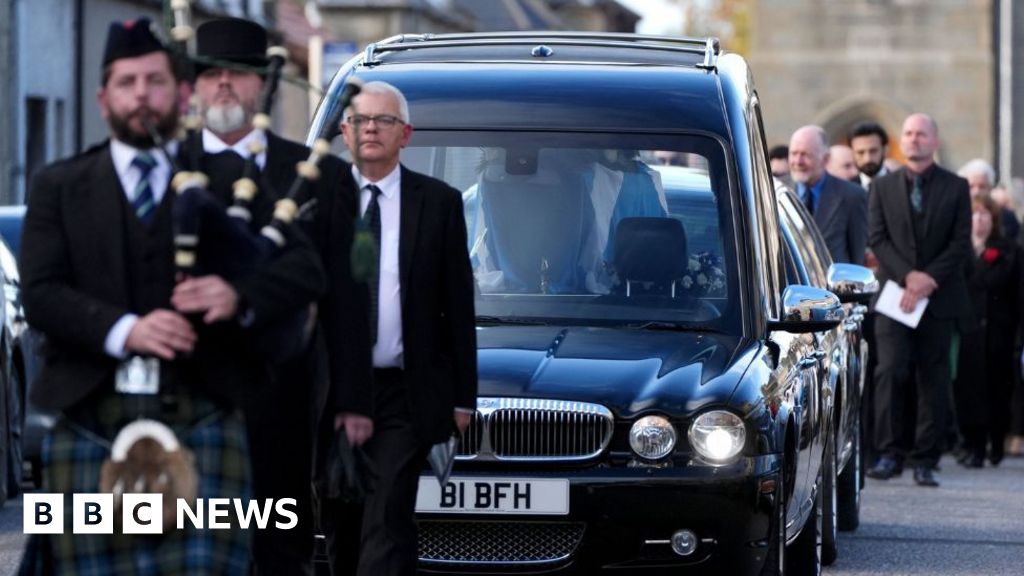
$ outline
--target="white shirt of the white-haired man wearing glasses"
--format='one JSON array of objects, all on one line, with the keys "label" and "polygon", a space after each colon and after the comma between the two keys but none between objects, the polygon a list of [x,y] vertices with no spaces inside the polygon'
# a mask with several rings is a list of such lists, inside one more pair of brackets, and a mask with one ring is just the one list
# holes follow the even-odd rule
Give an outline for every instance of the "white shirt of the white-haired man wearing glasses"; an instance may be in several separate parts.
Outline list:
[{"label": "white shirt of the white-haired man wearing glasses", "polygon": [[[370,184],[381,189],[377,205],[381,213],[380,285],[377,291],[377,342],[374,344],[374,368],[402,368],[401,284],[398,271],[398,231],[401,223],[401,166],[380,180],[372,181],[352,165],[352,176],[359,186],[359,214],[370,205]],[[370,319],[374,322],[374,319]]]}]

